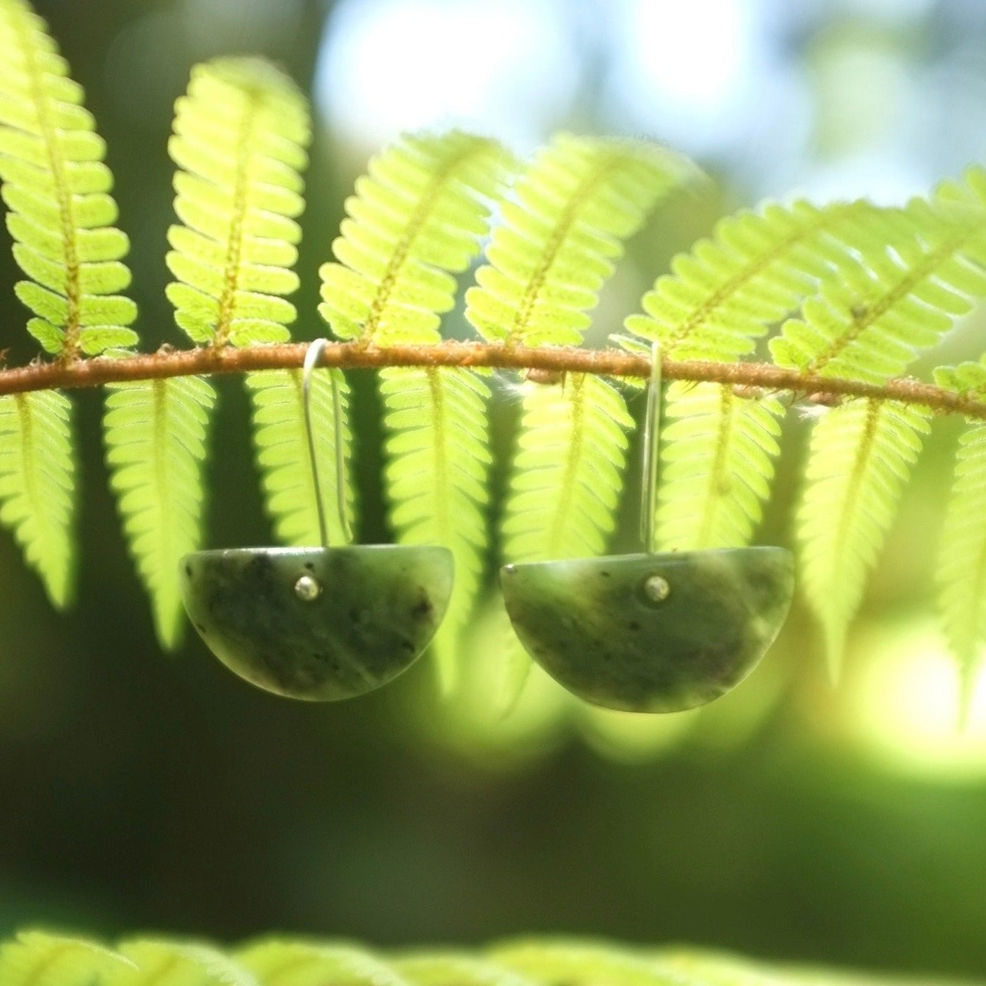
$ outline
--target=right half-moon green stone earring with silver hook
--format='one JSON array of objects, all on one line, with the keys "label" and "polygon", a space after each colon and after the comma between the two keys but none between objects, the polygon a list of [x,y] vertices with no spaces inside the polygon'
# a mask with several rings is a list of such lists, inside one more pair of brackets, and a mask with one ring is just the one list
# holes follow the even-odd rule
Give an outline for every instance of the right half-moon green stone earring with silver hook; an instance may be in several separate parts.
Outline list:
[{"label": "right half-moon green stone earring with silver hook", "polygon": [[501,569],[525,650],[593,705],[680,712],[729,691],[787,616],[794,560],[779,547],[656,551],[661,352],[652,350],[644,434],[644,552]]}]

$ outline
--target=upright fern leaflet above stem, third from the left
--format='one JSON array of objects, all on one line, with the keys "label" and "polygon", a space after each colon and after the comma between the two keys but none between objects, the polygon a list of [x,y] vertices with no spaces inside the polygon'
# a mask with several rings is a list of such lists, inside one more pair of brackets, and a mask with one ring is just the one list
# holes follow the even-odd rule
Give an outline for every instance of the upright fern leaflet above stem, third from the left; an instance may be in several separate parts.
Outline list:
[{"label": "upright fern leaflet above stem, third from the left", "polygon": [[322,265],[321,316],[340,339],[430,343],[489,229],[510,159],[495,141],[453,130],[405,135],[370,162]]}]

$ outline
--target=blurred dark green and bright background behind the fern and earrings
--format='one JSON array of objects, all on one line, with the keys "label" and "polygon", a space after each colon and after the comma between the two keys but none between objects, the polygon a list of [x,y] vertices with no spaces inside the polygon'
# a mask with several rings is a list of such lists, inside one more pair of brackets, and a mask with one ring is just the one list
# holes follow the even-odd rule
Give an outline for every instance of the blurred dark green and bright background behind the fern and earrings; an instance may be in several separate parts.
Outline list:
[{"label": "blurred dark green and bright background behind the fern and earrings", "polygon": [[[897,201],[986,159],[979,0],[36,8],[108,141],[145,348],[181,343],[163,293],[166,143],[189,66],[217,53],[264,53],[317,102],[299,337],[322,331],[316,270],[343,197],[400,129],[458,123],[520,153],[565,127],[647,134],[716,176],[715,195],[671,203],[631,245],[596,342],[724,211],[792,190]],[[16,279],[5,247],[10,365],[35,355]],[[937,358],[978,356],[984,327],[966,319]],[[360,534],[387,539],[379,408],[369,376],[353,383]],[[220,390],[209,543],[264,543],[246,397],[236,380]],[[454,702],[424,666],[375,697],[313,707],[251,690],[197,639],[163,656],[106,492],[99,396],[76,406],[70,612],[49,608],[0,536],[0,935],[283,930],[391,945],[559,931],[986,975],[986,681],[956,735],[934,624],[957,423],[936,426],[909,485],[837,688],[798,608],[761,669],[707,710],[593,713],[535,676],[501,720],[483,619]],[[502,388],[501,453],[515,411]],[[807,431],[790,418],[764,541],[790,540]],[[617,546],[633,542],[635,509],[631,487]]]}]

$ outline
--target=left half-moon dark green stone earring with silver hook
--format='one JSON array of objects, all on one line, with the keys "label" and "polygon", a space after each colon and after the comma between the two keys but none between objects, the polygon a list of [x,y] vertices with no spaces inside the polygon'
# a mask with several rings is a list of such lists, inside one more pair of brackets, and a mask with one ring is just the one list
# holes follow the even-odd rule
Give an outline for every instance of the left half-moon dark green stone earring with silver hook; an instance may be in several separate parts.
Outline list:
[{"label": "left half-moon dark green stone earring with silver hook", "polygon": [[[310,397],[327,343],[309,347],[302,383],[321,547],[196,551],[180,562],[185,610],[209,650],[260,688],[313,701],[362,695],[409,668],[445,616],[454,571],[445,547],[328,546]],[[348,534],[334,374],[332,401],[337,506]]]}]

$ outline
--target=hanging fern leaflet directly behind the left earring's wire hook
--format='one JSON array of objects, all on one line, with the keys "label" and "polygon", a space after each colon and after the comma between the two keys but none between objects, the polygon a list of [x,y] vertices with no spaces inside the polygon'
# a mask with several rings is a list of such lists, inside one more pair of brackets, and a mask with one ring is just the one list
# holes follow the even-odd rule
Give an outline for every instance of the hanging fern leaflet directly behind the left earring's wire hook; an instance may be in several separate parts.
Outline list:
[{"label": "hanging fern leaflet directly behind the left earring's wire hook", "polygon": [[[349,475],[352,434],[346,419],[349,386],[338,370],[314,370],[311,382],[312,425],[318,463],[318,489],[330,544],[347,540],[339,521],[335,470],[335,412],[332,385],[335,373],[342,412],[343,483],[347,516],[353,524],[355,491]],[[315,476],[305,432],[305,401],[300,370],[272,370],[246,375],[253,405],[253,443],[263,476],[264,501],[284,544],[312,546],[320,543]]]}]

